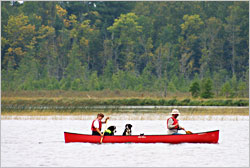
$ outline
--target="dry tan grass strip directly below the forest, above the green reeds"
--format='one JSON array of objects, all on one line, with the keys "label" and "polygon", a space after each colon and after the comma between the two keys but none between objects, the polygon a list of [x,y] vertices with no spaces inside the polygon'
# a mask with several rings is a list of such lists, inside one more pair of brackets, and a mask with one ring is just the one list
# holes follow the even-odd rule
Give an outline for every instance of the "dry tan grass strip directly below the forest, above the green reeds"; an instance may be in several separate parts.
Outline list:
[{"label": "dry tan grass strip directly below the forest, above the green reeds", "polygon": [[[162,92],[129,91],[129,90],[101,90],[101,91],[64,91],[64,90],[38,90],[38,91],[5,91],[2,98],[162,98]],[[188,98],[190,93],[168,92],[164,98]]]}]

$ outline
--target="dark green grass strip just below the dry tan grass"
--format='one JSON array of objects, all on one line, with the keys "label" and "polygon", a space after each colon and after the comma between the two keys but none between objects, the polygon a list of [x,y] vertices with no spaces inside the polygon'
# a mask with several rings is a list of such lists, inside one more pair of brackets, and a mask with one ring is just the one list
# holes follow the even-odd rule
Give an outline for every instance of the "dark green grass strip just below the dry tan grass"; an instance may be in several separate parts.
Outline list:
[{"label": "dark green grass strip just below the dry tan grass", "polygon": [[[37,107],[52,108],[79,108],[85,106],[248,106],[248,100],[192,100],[192,99],[149,99],[149,98],[125,98],[125,99],[85,99],[85,98],[32,98],[32,99],[2,99],[2,110],[33,109]],[[39,109],[39,108],[38,108]]]}]

